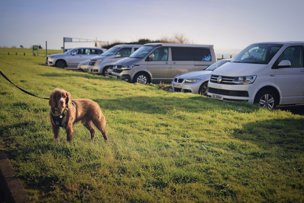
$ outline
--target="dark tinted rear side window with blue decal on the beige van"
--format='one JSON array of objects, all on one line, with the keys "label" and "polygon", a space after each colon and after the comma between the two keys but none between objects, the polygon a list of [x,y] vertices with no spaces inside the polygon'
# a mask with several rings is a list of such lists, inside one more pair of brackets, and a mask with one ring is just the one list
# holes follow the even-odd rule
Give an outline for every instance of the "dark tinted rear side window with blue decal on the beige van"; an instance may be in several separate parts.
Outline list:
[{"label": "dark tinted rear side window with blue decal on the beige van", "polygon": [[173,61],[211,61],[210,49],[171,47]]}]

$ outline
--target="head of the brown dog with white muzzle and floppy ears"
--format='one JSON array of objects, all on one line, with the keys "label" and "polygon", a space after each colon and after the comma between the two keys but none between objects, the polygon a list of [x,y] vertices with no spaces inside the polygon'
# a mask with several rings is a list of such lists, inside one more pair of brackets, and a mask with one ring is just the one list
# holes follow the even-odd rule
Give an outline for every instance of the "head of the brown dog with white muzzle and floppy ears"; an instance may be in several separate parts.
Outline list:
[{"label": "head of the brown dog with white muzzle and floppy ears", "polygon": [[54,109],[64,109],[68,108],[69,103],[71,103],[71,94],[63,89],[55,88],[49,100],[49,105]]}]

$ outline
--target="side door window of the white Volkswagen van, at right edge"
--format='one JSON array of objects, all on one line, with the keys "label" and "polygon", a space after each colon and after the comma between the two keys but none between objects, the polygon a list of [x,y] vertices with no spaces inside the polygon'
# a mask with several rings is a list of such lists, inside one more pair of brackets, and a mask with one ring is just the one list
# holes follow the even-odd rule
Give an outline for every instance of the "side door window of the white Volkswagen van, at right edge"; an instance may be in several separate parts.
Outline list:
[{"label": "side door window of the white Volkswagen van, at right edge", "polygon": [[303,67],[303,46],[287,47],[278,58],[278,63],[288,60],[291,68]]}]

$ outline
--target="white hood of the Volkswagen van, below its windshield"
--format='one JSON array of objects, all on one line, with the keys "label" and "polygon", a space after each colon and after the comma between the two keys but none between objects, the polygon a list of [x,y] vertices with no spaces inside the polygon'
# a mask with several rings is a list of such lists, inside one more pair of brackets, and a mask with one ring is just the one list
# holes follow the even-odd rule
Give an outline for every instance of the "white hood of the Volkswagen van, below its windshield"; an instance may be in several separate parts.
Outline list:
[{"label": "white hood of the Volkswagen van, below its windshield", "polygon": [[224,75],[230,77],[256,75],[267,66],[267,64],[228,62],[225,64],[225,68],[215,69],[212,72],[212,75]]}]

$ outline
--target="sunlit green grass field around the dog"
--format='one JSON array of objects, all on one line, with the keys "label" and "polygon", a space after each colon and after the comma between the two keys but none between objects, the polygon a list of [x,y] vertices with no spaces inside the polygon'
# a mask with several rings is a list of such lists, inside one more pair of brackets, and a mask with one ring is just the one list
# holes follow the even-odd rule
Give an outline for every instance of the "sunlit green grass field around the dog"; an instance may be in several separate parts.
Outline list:
[{"label": "sunlit green grass field around the dog", "polygon": [[[20,50],[26,56],[7,54]],[[0,49],[1,71],[17,86],[98,102],[109,142],[100,132],[91,142],[78,123],[72,143],[60,129],[55,146],[48,101],[1,77],[1,150],[33,202],[304,201],[304,116],[44,63],[45,51]]]}]

